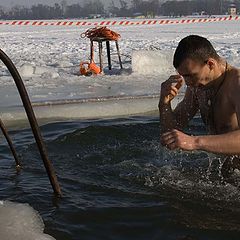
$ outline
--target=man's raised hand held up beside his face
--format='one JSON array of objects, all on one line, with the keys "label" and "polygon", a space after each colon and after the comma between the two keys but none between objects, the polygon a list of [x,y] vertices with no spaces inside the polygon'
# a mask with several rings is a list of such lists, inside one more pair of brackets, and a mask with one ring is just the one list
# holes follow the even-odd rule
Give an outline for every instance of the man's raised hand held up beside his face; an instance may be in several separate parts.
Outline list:
[{"label": "man's raised hand held up beside his face", "polygon": [[160,103],[169,104],[177,96],[183,83],[183,77],[180,75],[172,75],[167,81],[163,82],[161,85]]}]

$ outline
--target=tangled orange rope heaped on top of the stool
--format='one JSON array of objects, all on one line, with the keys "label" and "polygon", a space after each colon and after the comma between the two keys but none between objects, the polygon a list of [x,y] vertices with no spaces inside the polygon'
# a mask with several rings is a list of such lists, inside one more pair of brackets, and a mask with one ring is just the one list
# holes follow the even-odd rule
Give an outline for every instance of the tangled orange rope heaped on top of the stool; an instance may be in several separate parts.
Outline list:
[{"label": "tangled orange rope heaped on top of the stool", "polygon": [[86,32],[81,34],[82,38],[90,38],[90,40],[94,38],[105,38],[108,40],[117,41],[121,35],[117,32],[110,30],[107,27],[95,27],[89,28]]}]

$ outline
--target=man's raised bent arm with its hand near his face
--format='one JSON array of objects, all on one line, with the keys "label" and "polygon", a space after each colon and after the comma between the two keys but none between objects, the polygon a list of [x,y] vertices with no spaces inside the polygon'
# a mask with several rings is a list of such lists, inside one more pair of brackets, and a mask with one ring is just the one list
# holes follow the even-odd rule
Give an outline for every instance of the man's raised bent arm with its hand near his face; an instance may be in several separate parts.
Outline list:
[{"label": "man's raised bent arm with its hand near his face", "polygon": [[[199,108],[193,90],[188,87],[184,99],[177,105],[174,111],[172,110],[171,101],[178,94],[178,90],[183,84],[180,81],[183,81],[183,79],[178,75],[174,75],[165,81],[161,86],[161,95],[158,107],[160,124],[163,133],[175,128],[184,128]],[[173,86],[173,83],[176,82],[177,84]]]}]

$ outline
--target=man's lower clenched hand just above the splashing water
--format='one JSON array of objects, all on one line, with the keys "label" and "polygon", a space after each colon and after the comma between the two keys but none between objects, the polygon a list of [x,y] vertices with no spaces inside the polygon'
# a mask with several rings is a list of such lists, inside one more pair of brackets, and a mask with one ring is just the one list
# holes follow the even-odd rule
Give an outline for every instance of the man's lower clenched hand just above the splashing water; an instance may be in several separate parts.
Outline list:
[{"label": "man's lower clenched hand just above the splashing water", "polygon": [[197,150],[196,137],[189,136],[179,130],[173,129],[162,134],[161,144],[170,150],[182,149],[186,151]]}]

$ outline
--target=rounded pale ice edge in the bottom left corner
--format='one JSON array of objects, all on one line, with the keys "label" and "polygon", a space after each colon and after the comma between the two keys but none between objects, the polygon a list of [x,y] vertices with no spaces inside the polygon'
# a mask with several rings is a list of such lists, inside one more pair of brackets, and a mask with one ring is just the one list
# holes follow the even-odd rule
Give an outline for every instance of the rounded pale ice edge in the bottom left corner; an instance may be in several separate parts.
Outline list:
[{"label": "rounded pale ice edge in the bottom left corner", "polygon": [[1,240],[53,240],[44,234],[43,221],[28,204],[0,201]]}]

